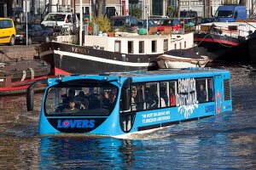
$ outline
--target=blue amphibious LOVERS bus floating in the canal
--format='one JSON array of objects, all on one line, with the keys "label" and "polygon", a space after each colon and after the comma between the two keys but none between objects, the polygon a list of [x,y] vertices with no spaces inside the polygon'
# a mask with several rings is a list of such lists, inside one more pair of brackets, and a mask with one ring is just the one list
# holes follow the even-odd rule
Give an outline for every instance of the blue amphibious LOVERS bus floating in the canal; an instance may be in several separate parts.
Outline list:
[{"label": "blue amphibious LOVERS bus floating in the canal", "polygon": [[211,68],[56,77],[46,83],[39,134],[127,134],[232,111],[230,71]]}]

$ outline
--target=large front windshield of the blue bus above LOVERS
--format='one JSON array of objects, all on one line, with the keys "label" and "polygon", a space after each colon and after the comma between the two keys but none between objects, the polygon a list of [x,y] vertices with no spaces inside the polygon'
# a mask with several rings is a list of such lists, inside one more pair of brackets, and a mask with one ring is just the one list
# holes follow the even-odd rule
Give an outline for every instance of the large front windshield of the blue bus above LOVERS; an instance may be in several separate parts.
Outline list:
[{"label": "large front windshield of the blue bus above LOVERS", "polygon": [[116,104],[118,88],[111,83],[58,84],[49,88],[44,110],[46,116],[108,116]]}]

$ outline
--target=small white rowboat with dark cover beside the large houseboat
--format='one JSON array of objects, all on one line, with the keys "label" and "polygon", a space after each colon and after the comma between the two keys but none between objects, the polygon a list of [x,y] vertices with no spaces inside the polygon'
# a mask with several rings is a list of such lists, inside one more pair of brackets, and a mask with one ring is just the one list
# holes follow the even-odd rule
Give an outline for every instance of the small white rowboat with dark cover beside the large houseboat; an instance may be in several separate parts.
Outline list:
[{"label": "small white rowboat with dark cover beside the large houseboat", "polygon": [[189,67],[204,67],[209,61],[207,56],[196,54],[193,48],[173,49],[161,54],[156,59],[160,69],[177,69]]}]

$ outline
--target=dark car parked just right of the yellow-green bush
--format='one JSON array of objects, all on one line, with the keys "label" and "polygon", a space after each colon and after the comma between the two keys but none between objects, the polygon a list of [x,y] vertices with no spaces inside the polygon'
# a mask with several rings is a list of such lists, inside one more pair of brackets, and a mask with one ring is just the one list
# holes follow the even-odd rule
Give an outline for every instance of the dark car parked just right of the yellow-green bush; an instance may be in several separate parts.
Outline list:
[{"label": "dark car parked just right of the yellow-green bush", "polygon": [[137,18],[131,15],[117,15],[110,19],[114,31],[137,31]]}]

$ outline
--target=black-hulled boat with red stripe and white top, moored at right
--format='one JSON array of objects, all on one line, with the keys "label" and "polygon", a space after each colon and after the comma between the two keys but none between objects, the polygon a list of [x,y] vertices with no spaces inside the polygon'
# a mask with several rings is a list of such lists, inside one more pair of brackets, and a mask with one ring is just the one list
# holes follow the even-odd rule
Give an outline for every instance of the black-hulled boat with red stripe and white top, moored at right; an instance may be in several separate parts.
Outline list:
[{"label": "black-hulled boat with red stripe and white top, moored at right", "polygon": [[194,42],[209,62],[248,63],[245,44],[252,27],[247,23],[207,23],[195,32]]}]

